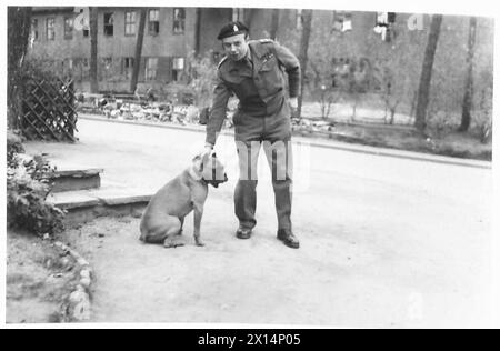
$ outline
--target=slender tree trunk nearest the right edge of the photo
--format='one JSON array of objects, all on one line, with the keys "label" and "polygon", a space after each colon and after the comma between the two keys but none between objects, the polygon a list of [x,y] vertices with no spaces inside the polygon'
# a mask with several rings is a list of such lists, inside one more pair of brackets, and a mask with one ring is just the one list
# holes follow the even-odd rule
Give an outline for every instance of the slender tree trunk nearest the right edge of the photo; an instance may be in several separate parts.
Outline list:
[{"label": "slender tree trunk nearest the right edge of the photo", "polygon": [[470,110],[472,107],[472,96],[473,96],[473,59],[474,59],[474,46],[476,46],[476,30],[477,30],[477,18],[470,18],[469,26],[469,43],[467,49],[467,73],[466,73],[466,92],[463,94],[462,102],[462,122],[458,129],[460,132],[466,132],[470,127]]}]

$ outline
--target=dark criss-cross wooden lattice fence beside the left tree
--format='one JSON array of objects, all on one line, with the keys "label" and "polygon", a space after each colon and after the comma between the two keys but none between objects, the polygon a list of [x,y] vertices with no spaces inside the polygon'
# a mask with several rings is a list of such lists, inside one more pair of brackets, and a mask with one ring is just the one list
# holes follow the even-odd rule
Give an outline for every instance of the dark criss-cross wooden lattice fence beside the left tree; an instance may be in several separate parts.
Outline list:
[{"label": "dark criss-cross wooden lattice fence beside the left tree", "polygon": [[29,80],[22,99],[21,131],[29,140],[76,141],[73,81]]}]

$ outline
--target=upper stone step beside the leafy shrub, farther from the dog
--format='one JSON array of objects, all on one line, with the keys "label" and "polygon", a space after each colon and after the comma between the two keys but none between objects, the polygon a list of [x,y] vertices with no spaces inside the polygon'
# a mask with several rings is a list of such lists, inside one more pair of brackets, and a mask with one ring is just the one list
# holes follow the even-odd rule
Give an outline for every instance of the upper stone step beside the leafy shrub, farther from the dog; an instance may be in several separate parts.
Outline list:
[{"label": "upper stone step beside the leafy shrub, farther from the dog", "polygon": [[58,168],[52,177],[54,182],[52,192],[98,189],[101,187],[101,168],[82,168],[64,166]]}]

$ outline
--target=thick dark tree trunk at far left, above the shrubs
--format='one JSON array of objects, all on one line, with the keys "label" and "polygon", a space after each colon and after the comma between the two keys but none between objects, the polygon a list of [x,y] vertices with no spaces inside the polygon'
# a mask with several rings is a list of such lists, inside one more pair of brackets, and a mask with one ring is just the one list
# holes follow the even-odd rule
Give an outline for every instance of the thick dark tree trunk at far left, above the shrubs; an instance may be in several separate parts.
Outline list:
[{"label": "thick dark tree trunk at far left, above the shrubs", "polygon": [[31,31],[31,7],[8,8],[8,80],[7,104],[8,126],[18,129],[19,116],[22,113],[22,63],[28,51]]}]

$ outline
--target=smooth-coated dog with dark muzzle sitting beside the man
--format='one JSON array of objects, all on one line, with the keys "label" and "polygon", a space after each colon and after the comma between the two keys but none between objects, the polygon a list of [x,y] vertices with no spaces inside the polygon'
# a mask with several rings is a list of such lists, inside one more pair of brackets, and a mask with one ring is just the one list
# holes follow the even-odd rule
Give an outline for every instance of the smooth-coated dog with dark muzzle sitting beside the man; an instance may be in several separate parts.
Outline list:
[{"label": "smooth-coated dog with dark muzzle sitting beside the man", "polygon": [[208,185],[219,188],[227,181],[224,167],[216,153],[194,157],[191,167],[151,198],[141,218],[139,239],[144,243],[163,243],[166,248],[181,247],[183,243],[178,239],[184,218],[194,211],[194,242],[202,247],[200,227]]}]

